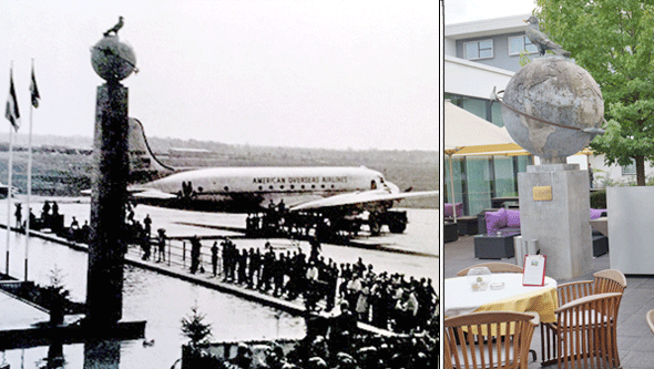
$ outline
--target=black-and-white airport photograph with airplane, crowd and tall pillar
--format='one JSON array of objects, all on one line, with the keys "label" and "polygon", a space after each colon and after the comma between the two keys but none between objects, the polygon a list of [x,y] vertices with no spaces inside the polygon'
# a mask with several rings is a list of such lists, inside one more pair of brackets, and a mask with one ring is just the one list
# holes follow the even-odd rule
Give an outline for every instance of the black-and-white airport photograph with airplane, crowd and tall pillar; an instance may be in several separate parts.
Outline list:
[{"label": "black-and-white airport photograph with airplane, crowd and tall pillar", "polygon": [[441,10],[0,2],[0,369],[438,367]]}]

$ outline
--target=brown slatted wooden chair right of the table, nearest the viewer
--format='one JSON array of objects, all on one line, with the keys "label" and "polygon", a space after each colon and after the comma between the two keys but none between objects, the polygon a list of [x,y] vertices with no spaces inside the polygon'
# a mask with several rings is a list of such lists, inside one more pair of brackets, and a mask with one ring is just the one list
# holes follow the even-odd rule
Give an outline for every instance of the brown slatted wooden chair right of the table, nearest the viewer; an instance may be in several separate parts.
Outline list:
[{"label": "brown slatted wooden chair right of the table, nearest the viewer", "polygon": [[617,309],[622,294],[596,294],[556,309],[559,368],[620,368]]}]

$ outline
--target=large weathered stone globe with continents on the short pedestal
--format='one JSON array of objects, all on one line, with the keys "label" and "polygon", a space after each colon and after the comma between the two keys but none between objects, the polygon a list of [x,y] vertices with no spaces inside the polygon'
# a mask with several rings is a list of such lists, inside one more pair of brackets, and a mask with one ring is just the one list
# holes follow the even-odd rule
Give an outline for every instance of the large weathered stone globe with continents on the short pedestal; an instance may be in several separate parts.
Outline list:
[{"label": "large weathered stone globe with continents on the short pedestal", "polygon": [[593,135],[582,130],[600,129],[604,116],[595,80],[559,57],[521,68],[509,81],[503,103],[502,120],[511,137],[544,163],[565,163],[565,156],[585,147]]}]

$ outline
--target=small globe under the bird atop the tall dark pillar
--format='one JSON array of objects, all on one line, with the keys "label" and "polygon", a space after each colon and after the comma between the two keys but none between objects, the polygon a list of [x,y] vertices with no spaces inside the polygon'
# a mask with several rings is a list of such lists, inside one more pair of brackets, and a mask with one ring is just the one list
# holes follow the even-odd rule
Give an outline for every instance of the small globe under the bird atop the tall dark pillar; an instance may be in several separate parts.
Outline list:
[{"label": "small globe under the bird atop the tall dark pillar", "polygon": [[106,35],[91,48],[91,64],[103,80],[120,81],[135,70],[136,54],[117,35]]}]

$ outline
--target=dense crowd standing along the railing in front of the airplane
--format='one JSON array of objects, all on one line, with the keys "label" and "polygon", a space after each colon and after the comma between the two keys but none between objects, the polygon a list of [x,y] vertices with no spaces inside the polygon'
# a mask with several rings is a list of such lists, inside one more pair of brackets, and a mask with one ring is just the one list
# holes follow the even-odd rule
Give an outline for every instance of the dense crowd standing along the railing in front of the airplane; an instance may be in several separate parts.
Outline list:
[{"label": "dense crowd standing along the railing in front of the airplane", "polygon": [[[194,237],[191,245],[191,273],[204,271],[201,243]],[[311,239],[310,245],[309,255],[299,247],[276,252],[269,242],[262,252],[258,247],[239,249],[225,238],[219,247],[217,242],[211,247],[212,273],[222,274],[223,281],[275,297],[295,300],[302,296],[309,311],[331,311],[337,301],[345,301],[357,320],[397,332],[425,330],[436,318],[438,296],[431,279],[376,273],[360,257],[352,264],[337,264],[320,255],[317,240]]]}]

